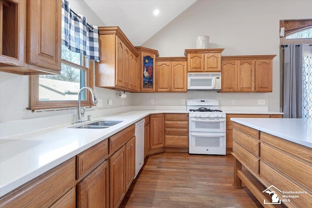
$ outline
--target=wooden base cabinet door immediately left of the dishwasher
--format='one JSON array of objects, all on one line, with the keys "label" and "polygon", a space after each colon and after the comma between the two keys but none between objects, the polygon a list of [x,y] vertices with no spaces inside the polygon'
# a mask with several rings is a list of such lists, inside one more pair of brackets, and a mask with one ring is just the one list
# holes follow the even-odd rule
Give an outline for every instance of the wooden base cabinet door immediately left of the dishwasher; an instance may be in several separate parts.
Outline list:
[{"label": "wooden base cabinet door immediately left of the dishwasher", "polygon": [[126,192],[136,174],[136,137],[133,136],[126,144]]}]

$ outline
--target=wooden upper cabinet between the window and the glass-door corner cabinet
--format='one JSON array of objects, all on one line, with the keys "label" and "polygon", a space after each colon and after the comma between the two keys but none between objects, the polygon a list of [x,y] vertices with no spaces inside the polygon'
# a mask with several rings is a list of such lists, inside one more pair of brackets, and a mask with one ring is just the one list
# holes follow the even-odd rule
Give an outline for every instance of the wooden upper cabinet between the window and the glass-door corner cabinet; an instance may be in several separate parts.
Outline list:
[{"label": "wooden upper cabinet between the window and the glass-door corner cabinet", "polygon": [[96,86],[136,92],[139,53],[119,27],[99,27]]}]

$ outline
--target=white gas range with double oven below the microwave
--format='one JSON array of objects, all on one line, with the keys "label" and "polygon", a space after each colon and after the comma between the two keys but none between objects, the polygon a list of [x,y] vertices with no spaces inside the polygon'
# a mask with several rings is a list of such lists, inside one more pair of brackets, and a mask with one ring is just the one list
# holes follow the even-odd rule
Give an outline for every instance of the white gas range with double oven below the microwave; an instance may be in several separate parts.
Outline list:
[{"label": "white gas range with double oven below the microwave", "polygon": [[226,153],[226,113],[215,99],[187,100],[189,111],[189,153]]}]

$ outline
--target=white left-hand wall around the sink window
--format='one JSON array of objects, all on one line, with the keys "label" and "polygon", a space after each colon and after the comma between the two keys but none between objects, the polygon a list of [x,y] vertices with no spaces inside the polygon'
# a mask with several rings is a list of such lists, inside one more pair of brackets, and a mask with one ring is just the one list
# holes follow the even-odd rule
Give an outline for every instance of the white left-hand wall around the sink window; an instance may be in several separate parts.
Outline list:
[{"label": "white left-hand wall around the sink window", "polygon": [[[76,13],[85,16],[90,24],[106,26],[84,1],[69,0],[69,3],[71,8]],[[87,109],[87,111],[130,106],[132,103],[131,93],[128,93],[127,97],[123,99],[124,105],[122,105],[122,99],[117,96],[118,91],[98,87],[93,88],[98,99],[103,100],[103,107],[92,107]],[[29,106],[28,97],[29,76],[0,72],[0,122],[76,113],[76,110],[32,113],[26,110]],[[109,106],[107,104],[108,99],[113,100],[113,105]],[[71,114],[69,116],[72,116]],[[93,112],[92,114],[96,113]]]}]

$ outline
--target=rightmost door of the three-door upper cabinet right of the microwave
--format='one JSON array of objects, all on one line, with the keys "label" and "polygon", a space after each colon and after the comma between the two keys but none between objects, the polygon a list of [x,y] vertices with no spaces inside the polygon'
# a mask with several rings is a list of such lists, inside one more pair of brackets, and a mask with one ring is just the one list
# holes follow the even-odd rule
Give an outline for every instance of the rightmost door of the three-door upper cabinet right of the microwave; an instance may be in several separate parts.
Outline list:
[{"label": "rightmost door of the three-door upper cabinet right of the microwave", "polygon": [[272,60],[256,60],[255,91],[272,92]]}]

